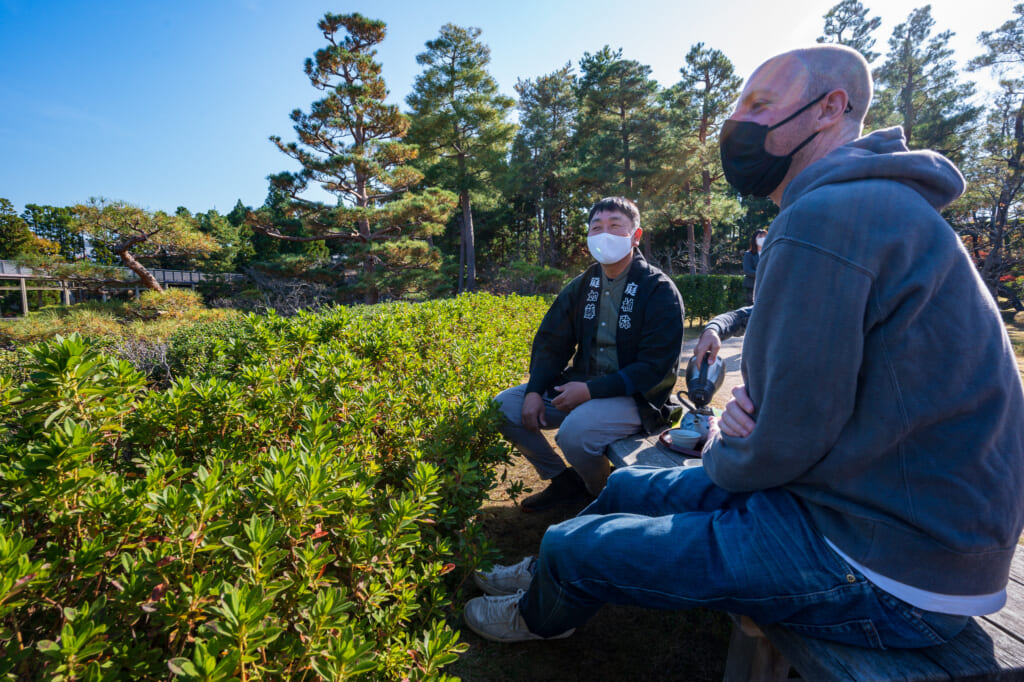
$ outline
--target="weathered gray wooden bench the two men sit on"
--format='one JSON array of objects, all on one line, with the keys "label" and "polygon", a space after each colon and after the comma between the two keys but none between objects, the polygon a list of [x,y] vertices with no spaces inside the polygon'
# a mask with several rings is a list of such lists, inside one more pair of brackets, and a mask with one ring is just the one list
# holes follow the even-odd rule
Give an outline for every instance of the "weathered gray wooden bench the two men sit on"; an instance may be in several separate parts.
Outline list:
[{"label": "weathered gray wooden bench the two men sit on", "polygon": [[[608,446],[615,467],[700,466],[657,444],[656,436],[624,438]],[[972,619],[964,632],[924,649],[864,649],[798,635],[781,626],[734,619],[725,682],[780,682],[791,669],[805,680],[1024,680],[1024,548],[1010,570],[1007,605]]]}]

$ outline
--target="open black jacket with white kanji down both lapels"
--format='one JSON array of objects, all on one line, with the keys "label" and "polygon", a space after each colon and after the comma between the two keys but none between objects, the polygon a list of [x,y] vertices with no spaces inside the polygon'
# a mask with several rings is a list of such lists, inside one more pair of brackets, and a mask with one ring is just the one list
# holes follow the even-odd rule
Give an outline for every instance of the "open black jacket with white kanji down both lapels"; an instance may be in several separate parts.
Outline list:
[{"label": "open black jacket with white kanji down both lapels", "polygon": [[591,345],[599,315],[587,297],[600,289],[600,268],[594,263],[572,280],[544,315],[534,337],[526,390],[543,395],[566,381],[586,381],[591,398],[632,396],[644,429],[658,430],[672,417],[667,402],[682,351],[683,298],[672,280],[635,251],[615,332],[620,369],[595,376]]}]

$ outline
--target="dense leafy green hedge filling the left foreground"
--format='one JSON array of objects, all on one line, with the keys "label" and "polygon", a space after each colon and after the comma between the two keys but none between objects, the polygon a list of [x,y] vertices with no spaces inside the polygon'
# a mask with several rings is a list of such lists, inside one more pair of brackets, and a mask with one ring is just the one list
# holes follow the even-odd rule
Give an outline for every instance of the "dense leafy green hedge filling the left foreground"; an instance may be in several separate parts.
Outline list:
[{"label": "dense leafy green hedge filling the left foreground", "polygon": [[[250,316],[166,390],[78,335],[0,376],[0,679],[444,679],[488,398],[547,304]],[[231,332],[236,334],[232,336]]]}]

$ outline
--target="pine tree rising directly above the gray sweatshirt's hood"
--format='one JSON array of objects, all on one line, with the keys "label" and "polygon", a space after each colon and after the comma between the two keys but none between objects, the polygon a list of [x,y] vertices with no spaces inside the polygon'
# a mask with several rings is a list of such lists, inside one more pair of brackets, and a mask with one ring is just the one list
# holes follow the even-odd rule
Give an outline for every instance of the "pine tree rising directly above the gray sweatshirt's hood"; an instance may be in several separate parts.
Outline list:
[{"label": "pine tree rising directly above the gray sweatshirt's hood", "polygon": [[973,83],[959,83],[951,31],[932,36],[931,5],[910,12],[893,30],[889,54],[874,74],[873,114],[867,126],[902,125],[907,144],[959,161],[980,109]]}]

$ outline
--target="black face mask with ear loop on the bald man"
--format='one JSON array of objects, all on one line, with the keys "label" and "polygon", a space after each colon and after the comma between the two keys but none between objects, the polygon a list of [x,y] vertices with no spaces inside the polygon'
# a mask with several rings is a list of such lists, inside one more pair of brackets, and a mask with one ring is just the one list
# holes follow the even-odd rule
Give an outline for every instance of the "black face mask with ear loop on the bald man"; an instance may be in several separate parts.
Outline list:
[{"label": "black face mask with ear loop on the bald man", "polygon": [[797,118],[814,104],[821,101],[828,93],[815,97],[796,112],[773,126],[766,126],[753,121],[726,121],[722,124],[722,132],[718,137],[722,154],[722,169],[729,184],[739,190],[739,194],[754,197],[767,197],[782,183],[785,174],[793,163],[793,157],[804,148],[818,134],[811,135],[797,145],[784,157],[776,157],[765,148],[765,138],[768,133]]}]

